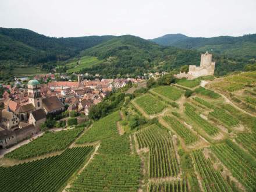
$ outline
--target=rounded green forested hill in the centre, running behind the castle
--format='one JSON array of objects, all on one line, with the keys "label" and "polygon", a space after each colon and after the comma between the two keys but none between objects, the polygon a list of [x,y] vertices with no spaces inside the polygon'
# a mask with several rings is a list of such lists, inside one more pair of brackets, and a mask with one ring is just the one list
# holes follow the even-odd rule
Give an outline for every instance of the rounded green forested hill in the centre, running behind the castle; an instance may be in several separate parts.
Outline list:
[{"label": "rounded green forested hill in the centre, running behind the castle", "polygon": [[[200,65],[200,52],[175,47],[162,47],[154,42],[132,35],[123,35],[98,44],[81,52],[81,56],[97,56],[105,62],[81,70],[92,74],[99,73],[105,77],[117,74],[141,75],[145,72],[169,71],[183,65]],[[234,70],[243,70],[248,64],[245,59],[214,55],[216,75],[223,75]]]}]

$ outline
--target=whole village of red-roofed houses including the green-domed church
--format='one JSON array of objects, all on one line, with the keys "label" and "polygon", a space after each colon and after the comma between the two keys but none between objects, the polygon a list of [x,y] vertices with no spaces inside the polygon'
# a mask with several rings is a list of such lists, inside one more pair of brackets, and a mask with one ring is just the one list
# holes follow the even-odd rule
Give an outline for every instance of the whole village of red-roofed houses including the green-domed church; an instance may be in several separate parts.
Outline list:
[{"label": "whole village of red-roofed houses including the green-domed church", "polygon": [[[152,75],[151,75],[152,76]],[[62,76],[62,79],[68,77]],[[38,74],[29,80],[16,78],[0,99],[0,148],[8,148],[40,133],[47,118],[76,113],[86,120],[90,108],[109,93],[126,84],[136,86],[143,79],[83,79],[56,81],[55,74]],[[64,116],[65,117],[65,116]],[[66,127],[67,123],[64,121]]]}]

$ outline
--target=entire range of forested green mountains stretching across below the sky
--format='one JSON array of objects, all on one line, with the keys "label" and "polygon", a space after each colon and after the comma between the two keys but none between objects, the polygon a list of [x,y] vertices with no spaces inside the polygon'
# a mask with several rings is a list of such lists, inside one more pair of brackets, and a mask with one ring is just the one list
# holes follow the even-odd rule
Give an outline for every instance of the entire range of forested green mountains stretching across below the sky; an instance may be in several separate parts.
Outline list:
[{"label": "entire range of forested green mountains stretching across below the sky", "polygon": [[[240,38],[243,41],[240,41]],[[70,72],[63,67],[66,65],[66,61],[72,61],[72,59],[76,61],[80,56],[96,56],[97,58],[94,60],[99,60],[95,62],[97,65],[79,66],[76,72],[99,73],[104,77],[116,77],[119,74],[122,77],[125,77],[126,74],[138,76],[148,72],[179,70],[183,65],[199,65],[200,54],[206,49],[214,53],[215,74],[221,76],[234,70],[243,70],[247,64],[255,63],[255,59],[251,59],[256,55],[253,52],[256,49],[253,47],[255,35],[246,35],[240,38],[190,38],[182,34],[170,34],[158,39],[159,44],[166,41],[168,44],[176,46],[168,47],[133,35],[54,38],[26,29],[0,28],[0,80],[8,81],[12,79],[13,74],[16,75],[31,69],[31,66],[34,67],[34,70],[52,72],[58,65],[61,69],[59,72]],[[215,43],[223,45],[226,52],[229,52],[229,47],[232,47],[234,51],[236,48],[234,44],[238,47],[241,44],[241,51],[238,48],[237,52],[240,51],[243,54],[250,52],[251,56],[237,56],[225,54],[225,52],[216,54],[218,51],[215,49],[211,51],[206,48],[210,45],[217,46]],[[246,44],[248,47],[245,47]],[[243,48],[247,49],[244,51]],[[19,73],[13,73],[15,69]]]}]

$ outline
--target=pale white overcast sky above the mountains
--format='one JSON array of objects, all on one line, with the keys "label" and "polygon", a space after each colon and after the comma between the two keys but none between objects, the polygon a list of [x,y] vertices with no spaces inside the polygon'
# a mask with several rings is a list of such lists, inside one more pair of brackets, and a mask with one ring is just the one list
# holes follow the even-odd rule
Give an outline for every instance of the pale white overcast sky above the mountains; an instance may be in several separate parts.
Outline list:
[{"label": "pale white overcast sky above the mountains", "polygon": [[0,27],[51,37],[256,33],[256,0],[0,0]]}]

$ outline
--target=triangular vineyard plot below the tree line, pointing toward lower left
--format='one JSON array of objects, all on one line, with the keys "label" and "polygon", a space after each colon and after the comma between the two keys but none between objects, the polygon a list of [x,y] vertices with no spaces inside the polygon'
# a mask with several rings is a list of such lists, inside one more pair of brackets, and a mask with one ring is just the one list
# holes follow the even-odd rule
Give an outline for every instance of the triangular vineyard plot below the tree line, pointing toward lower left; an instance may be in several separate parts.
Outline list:
[{"label": "triangular vineyard plot below the tree line, pointing toward lower left", "polygon": [[77,144],[90,143],[94,141],[103,140],[105,138],[112,137],[115,134],[118,134],[118,130],[116,127],[116,122],[120,119],[119,112],[113,112],[111,115],[106,116],[93,123],[93,127],[86,131],[76,141]]}]

